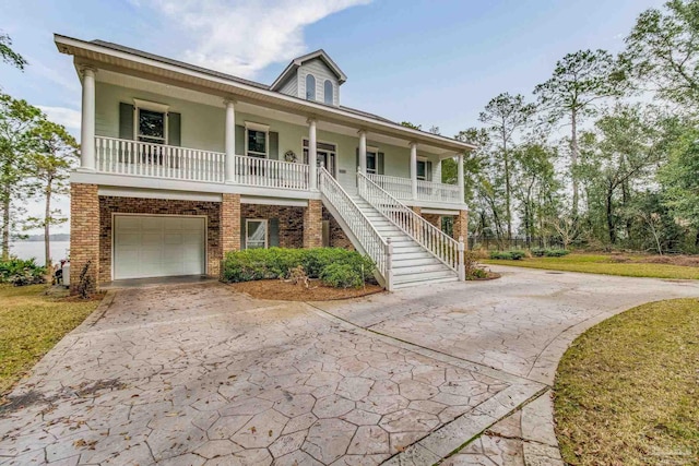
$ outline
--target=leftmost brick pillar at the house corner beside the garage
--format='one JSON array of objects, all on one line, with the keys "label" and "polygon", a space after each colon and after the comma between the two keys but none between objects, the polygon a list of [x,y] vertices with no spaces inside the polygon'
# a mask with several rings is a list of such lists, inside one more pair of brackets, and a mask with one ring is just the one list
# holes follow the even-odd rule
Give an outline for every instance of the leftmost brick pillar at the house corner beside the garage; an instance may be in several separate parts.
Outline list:
[{"label": "leftmost brick pillar at the house corner beside the garage", "polygon": [[80,274],[90,261],[92,279],[88,292],[97,289],[99,263],[99,201],[97,184],[70,186],[70,292],[78,292]]}]

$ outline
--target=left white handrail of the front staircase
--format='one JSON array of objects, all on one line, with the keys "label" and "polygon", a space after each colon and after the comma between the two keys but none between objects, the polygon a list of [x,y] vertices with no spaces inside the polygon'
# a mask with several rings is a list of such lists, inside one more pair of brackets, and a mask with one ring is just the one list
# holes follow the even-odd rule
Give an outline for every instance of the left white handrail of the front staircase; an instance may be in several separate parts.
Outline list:
[{"label": "left white handrail of the front staircase", "polygon": [[386,289],[393,288],[392,255],[393,246],[390,239],[384,240],[362,210],[342,189],[340,183],[325,170],[319,168],[318,188],[321,195],[337,211],[341,219],[350,227],[366,254],[371,258],[379,274],[386,280]]}]

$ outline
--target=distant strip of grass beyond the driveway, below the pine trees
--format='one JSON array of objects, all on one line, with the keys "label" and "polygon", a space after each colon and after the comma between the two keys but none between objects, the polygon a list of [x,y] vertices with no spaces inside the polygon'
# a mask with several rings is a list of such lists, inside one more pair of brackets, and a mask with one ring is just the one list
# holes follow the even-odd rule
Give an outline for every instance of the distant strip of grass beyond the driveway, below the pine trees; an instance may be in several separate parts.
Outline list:
[{"label": "distant strip of grass beyond the driveway, below the pine trees", "polygon": [[614,263],[611,262],[609,255],[599,254],[569,254],[562,258],[531,258],[520,261],[487,259],[483,260],[483,262],[493,265],[512,265],[517,267],[620,275],[626,277],[699,279],[699,267],[642,262]]}]

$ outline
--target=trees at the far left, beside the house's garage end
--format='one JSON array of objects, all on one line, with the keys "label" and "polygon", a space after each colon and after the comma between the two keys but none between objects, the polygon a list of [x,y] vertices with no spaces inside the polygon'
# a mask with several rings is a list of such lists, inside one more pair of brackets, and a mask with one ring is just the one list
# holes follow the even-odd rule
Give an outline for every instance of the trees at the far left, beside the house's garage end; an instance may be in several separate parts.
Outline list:
[{"label": "trees at the far left, beside the house's garage end", "polygon": [[[0,59],[23,71],[27,61],[0,33]],[[54,207],[56,195],[69,193],[69,174],[78,159],[75,139],[26,100],[0,87],[0,262],[10,259],[10,241],[29,229],[44,229],[46,264],[50,265],[50,228],[67,220]],[[43,215],[27,214],[26,204],[40,200]]]}]

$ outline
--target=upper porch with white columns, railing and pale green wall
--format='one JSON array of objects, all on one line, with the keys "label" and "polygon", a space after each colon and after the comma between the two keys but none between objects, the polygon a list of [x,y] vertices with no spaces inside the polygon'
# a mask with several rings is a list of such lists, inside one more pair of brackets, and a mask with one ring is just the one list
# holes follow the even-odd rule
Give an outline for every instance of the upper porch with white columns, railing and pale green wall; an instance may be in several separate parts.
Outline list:
[{"label": "upper porch with white columns, railing and pale green wall", "polygon": [[347,191],[362,171],[405,204],[465,208],[463,170],[457,184],[441,183],[441,163],[462,159],[467,144],[213,75],[194,80],[156,60],[137,70],[138,57],[63,43],[83,84],[75,182],[316,199],[323,166]]}]

